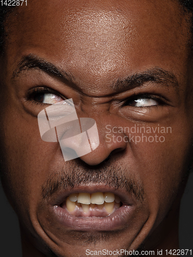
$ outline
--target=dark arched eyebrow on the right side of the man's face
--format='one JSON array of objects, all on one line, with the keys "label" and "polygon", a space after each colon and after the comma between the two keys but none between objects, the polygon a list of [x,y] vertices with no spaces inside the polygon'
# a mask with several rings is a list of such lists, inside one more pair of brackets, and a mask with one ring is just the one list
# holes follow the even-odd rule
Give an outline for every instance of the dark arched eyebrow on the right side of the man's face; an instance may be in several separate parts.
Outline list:
[{"label": "dark arched eyebrow on the right side of the man's face", "polygon": [[112,88],[114,90],[132,89],[137,86],[142,86],[145,83],[157,83],[162,86],[173,86],[178,91],[179,83],[177,77],[170,71],[159,67],[147,69],[127,77],[124,80],[117,80]]}]

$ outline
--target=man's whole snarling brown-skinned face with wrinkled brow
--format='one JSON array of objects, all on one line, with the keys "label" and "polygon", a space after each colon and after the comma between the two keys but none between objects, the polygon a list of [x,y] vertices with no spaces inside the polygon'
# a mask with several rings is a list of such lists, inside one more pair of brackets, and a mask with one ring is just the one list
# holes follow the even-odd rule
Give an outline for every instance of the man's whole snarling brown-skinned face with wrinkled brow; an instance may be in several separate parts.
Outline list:
[{"label": "man's whole snarling brown-skinned face with wrinkled brow", "polygon": [[[1,144],[23,240],[57,256],[136,250],[149,235],[146,247],[156,246],[178,219],[190,165],[188,17],[177,3],[144,0],[29,1],[17,11],[2,65]],[[65,162],[58,142],[41,139],[37,116],[54,95],[95,119],[96,150]],[[112,192],[120,207],[68,212],[67,196],[81,192]]]}]

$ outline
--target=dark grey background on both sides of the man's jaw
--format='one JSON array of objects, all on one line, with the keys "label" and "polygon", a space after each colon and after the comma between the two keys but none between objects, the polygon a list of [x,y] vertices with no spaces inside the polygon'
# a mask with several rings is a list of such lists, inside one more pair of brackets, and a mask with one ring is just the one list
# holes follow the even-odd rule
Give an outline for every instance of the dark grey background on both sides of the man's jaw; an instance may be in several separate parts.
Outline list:
[{"label": "dark grey background on both sides of the man's jaw", "polygon": [[[14,211],[5,197],[1,183],[0,205],[0,256],[21,257],[19,224]],[[193,174],[190,174],[181,203],[180,248],[192,249],[191,256],[193,256]],[[190,256],[190,254],[186,256]]]}]

